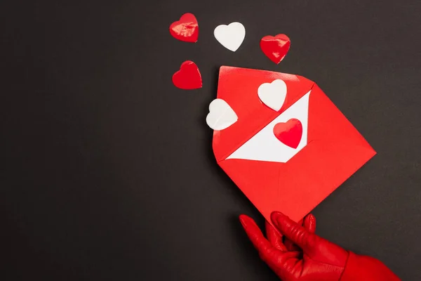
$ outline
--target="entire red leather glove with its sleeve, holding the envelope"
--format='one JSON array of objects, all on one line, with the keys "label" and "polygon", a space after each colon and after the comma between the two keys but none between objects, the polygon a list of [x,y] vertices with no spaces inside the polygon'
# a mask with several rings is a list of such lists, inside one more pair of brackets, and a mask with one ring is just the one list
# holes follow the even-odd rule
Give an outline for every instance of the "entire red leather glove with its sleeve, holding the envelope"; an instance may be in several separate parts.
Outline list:
[{"label": "entire red leather glove with its sleeve, holding the envelope", "polygon": [[[282,237],[267,223],[267,237],[248,216],[240,216],[241,224],[260,257],[283,281],[397,281],[383,263],[368,256],[358,256],[314,234],[315,218],[309,215],[303,226],[279,212],[272,222],[286,239],[300,247],[290,249]],[[293,243],[293,244],[292,244]],[[295,246],[292,246],[295,247]]]}]

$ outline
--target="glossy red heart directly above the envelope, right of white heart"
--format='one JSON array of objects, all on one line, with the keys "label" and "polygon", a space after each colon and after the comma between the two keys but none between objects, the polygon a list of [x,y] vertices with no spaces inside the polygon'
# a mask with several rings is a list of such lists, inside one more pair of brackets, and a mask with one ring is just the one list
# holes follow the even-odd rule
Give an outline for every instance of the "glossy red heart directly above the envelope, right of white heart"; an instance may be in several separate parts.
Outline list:
[{"label": "glossy red heart directly above the envelope, right of white heart", "polygon": [[291,45],[291,41],[285,34],[278,34],[275,37],[265,36],[260,40],[260,48],[263,53],[274,63],[281,63],[285,58]]}]

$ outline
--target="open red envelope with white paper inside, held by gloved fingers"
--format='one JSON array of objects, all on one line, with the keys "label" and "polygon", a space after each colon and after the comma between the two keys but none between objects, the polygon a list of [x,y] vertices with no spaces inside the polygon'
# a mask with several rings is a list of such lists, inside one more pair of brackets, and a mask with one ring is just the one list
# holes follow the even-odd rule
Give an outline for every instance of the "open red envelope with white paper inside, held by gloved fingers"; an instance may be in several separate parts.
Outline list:
[{"label": "open red envelope with white paper inside, held by gloved fingers", "polygon": [[[276,79],[287,89],[279,111],[258,96],[260,85]],[[272,211],[299,221],[376,153],[319,86],[304,77],[222,66],[218,98],[238,120],[214,131],[215,158],[267,221]],[[302,124],[298,148],[284,145],[273,133],[276,124],[289,119]]]}]

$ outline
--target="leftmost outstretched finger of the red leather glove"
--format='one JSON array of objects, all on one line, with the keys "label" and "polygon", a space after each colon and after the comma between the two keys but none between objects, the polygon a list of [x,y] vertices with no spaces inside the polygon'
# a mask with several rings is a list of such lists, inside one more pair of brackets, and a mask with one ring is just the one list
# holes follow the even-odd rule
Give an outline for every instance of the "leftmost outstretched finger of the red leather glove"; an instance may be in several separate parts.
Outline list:
[{"label": "leftmost outstretched finger of the red leather glove", "polygon": [[263,236],[262,231],[258,225],[253,221],[253,218],[250,218],[246,215],[240,216],[240,222],[244,230],[246,230],[247,236],[250,241],[253,243],[254,247],[259,251],[261,255],[272,254],[274,247],[272,244]]}]

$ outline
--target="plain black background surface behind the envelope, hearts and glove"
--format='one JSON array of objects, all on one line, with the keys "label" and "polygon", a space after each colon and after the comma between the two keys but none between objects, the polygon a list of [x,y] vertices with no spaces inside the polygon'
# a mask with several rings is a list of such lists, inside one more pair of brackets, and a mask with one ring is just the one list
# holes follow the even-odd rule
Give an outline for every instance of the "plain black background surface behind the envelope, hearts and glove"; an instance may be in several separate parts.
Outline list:
[{"label": "plain black background surface behind the envelope, hearts and glove", "polygon": [[[1,1],[4,280],[277,280],[206,126],[220,65],[316,81],[377,155],[317,233],[420,280],[420,1]],[[173,39],[192,12],[199,41]],[[239,21],[232,53],[213,37]],[[288,34],[275,65],[260,38]],[[194,60],[203,89],[171,83]],[[6,279],[6,276],[7,279]]]}]

